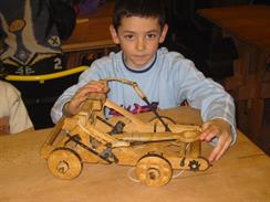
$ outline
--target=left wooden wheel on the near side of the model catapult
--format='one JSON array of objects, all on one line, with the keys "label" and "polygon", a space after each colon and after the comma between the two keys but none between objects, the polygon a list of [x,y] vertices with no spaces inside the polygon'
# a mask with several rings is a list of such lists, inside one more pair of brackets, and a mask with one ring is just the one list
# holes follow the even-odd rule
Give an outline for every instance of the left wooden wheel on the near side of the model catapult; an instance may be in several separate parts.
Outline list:
[{"label": "left wooden wheel on the near side of the model catapult", "polygon": [[64,180],[74,179],[82,171],[80,157],[68,148],[52,151],[48,158],[48,167],[53,176]]}]

